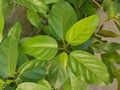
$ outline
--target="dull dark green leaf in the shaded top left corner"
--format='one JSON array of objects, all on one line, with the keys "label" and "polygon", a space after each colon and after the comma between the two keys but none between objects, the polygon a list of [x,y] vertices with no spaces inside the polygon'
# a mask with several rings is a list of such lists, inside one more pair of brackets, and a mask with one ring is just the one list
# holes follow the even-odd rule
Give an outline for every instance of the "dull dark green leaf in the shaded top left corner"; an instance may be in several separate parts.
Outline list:
[{"label": "dull dark green leaf in the shaded top left corner", "polygon": [[12,12],[15,6],[14,4],[14,0],[3,0],[2,11],[4,17],[8,16]]}]

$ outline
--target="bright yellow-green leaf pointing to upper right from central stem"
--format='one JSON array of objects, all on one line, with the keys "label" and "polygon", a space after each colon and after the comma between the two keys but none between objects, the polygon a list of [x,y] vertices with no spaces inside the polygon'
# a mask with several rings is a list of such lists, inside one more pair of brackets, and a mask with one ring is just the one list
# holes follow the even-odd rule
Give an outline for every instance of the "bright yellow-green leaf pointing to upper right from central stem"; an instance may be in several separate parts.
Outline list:
[{"label": "bright yellow-green leaf pointing to upper right from central stem", "polygon": [[87,41],[99,23],[99,16],[92,15],[76,22],[67,32],[66,41],[76,46]]}]

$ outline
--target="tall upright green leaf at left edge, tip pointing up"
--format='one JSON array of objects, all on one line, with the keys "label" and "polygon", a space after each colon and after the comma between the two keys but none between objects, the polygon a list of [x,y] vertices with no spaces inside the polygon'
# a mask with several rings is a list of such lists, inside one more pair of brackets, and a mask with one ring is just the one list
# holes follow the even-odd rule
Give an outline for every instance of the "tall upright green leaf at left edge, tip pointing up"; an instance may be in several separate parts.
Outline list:
[{"label": "tall upright green leaf at left edge, tip pointing up", "polygon": [[[14,33],[13,32],[14,29]],[[18,38],[17,31],[19,24],[15,24],[9,31],[7,38],[0,46],[0,77],[13,77],[18,57]],[[11,33],[10,33],[11,32]],[[17,36],[18,35],[18,36]]]}]

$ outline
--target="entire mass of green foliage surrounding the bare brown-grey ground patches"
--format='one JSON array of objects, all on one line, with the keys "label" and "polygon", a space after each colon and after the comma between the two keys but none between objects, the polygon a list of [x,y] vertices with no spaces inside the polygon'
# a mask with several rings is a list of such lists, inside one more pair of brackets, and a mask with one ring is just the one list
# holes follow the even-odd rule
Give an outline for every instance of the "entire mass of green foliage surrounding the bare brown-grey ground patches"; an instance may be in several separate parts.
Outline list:
[{"label": "entire mass of green foliage surrounding the bare brown-grey ground patches", "polygon": [[[22,37],[16,21],[3,34],[17,5],[27,8],[26,18],[41,33]],[[120,34],[104,30],[96,14],[103,10],[120,31],[119,8],[120,0],[0,0],[0,90],[86,90],[114,78],[120,90],[120,43],[102,39]]]}]

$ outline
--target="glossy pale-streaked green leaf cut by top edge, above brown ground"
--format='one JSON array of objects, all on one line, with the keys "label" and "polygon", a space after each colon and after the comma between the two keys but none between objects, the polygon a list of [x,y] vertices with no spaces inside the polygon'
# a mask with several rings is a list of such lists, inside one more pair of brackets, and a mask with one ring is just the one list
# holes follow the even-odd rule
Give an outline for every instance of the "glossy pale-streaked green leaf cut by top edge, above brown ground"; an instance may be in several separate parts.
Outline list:
[{"label": "glossy pale-streaked green leaf cut by top edge, above brown ground", "polygon": [[18,4],[23,5],[36,12],[46,14],[48,6],[42,0],[16,0]]}]

